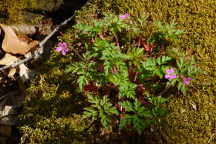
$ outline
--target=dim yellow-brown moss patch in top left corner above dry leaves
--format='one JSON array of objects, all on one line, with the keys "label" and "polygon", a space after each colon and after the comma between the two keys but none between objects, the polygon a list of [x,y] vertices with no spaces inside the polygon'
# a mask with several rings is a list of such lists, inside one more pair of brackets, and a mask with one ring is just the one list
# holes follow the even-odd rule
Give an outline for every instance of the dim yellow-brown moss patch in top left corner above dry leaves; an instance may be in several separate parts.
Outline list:
[{"label": "dim yellow-brown moss patch in top left corner above dry leaves", "polygon": [[32,19],[30,23],[37,23],[41,20],[41,15],[29,15],[29,12],[25,9],[53,12],[57,10],[61,4],[63,4],[63,0],[4,0],[0,2],[0,12],[7,16],[7,18],[3,20],[4,23],[26,23],[26,18]]}]

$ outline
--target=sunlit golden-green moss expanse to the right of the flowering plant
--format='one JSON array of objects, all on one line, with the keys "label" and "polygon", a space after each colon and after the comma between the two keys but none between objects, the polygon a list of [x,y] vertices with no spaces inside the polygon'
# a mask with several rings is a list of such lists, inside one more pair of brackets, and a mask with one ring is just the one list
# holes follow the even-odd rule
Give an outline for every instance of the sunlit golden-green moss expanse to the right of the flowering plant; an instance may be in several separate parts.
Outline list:
[{"label": "sunlit golden-green moss expanse to the right of the flowering plant", "polygon": [[[177,22],[185,34],[175,46],[194,55],[203,69],[193,83],[192,95],[170,98],[168,123],[162,127],[161,134],[167,143],[216,143],[216,1],[140,0],[137,3],[142,8],[141,14],[150,15],[153,20]],[[130,5],[126,10],[131,10]]]}]

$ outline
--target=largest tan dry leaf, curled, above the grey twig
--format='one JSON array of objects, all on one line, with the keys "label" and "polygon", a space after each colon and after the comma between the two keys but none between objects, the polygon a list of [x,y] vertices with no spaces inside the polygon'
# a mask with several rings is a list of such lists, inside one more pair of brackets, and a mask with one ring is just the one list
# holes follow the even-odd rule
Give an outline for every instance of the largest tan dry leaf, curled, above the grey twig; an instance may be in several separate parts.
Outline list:
[{"label": "largest tan dry leaf, curled, above the grey twig", "polygon": [[10,26],[0,24],[0,27],[5,33],[2,49],[7,53],[24,55],[38,45],[37,41],[28,43],[21,40]]}]

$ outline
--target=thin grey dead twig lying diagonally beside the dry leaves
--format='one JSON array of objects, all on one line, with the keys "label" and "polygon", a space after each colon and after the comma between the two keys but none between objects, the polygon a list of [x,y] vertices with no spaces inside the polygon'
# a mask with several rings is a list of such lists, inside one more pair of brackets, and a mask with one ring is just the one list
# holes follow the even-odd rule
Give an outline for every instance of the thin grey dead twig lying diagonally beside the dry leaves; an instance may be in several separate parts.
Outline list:
[{"label": "thin grey dead twig lying diagonally beside the dry leaves", "polygon": [[71,21],[73,19],[74,15],[69,17],[68,19],[66,19],[65,21],[63,21],[61,24],[59,24],[48,36],[46,36],[40,43],[39,43],[39,47],[33,52],[33,54],[29,57],[26,57],[23,60],[17,61],[11,65],[7,65],[7,66],[3,66],[0,68],[0,71],[8,69],[8,68],[12,68],[12,67],[16,67],[20,64],[23,64],[25,62],[28,62],[32,59],[37,60],[43,53],[44,53],[44,45],[46,44],[46,42],[56,33],[59,31],[59,29],[66,25],[69,21]]}]

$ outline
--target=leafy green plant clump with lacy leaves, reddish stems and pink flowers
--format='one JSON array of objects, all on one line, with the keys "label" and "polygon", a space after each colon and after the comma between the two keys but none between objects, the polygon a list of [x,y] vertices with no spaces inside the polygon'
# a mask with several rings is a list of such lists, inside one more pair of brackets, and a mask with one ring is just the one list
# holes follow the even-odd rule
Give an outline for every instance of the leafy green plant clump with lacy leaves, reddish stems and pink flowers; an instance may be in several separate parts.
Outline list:
[{"label": "leafy green plant clump with lacy leaves, reddish stems and pink flowers", "polygon": [[76,24],[66,34],[69,39],[61,38],[78,56],[66,72],[77,75],[79,89],[88,97],[83,118],[141,134],[165,114],[161,93],[171,87],[186,93],[198,72],[195,63],[166,55],[168,41],[182,31],[157,23],[157,32],[145,38],[145,26],[146,19],[108,15],[91,24]]}]

